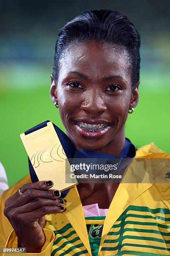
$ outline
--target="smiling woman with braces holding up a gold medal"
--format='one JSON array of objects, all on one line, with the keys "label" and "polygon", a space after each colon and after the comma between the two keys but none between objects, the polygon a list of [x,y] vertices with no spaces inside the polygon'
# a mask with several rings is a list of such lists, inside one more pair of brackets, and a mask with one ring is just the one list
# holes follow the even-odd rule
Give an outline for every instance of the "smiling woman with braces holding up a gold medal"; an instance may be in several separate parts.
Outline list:
[{"label": "smiling woman with braces holding up a gold medal", "polygon": [[[138,104],[139,48],[138,31],[115,11],[88,10],[61,29],[50,97],[75,153],[170,157],[153,143],[135,151],[125,138]],[[64,199],[52,186],[27,175],[3,194],[2,246],[45,256],[170,255],[167,184],[78,184]],[[106,216],[85,217],[82,206],[92,204],[108,209]]]}]

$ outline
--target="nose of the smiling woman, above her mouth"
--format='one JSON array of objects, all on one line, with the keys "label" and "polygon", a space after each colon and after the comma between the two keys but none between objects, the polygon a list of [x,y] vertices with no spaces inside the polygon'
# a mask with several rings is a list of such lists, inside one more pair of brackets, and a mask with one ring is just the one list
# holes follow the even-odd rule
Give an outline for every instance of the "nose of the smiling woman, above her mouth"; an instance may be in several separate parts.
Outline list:
[{"label": "nose of the smiling woman, above her mouth", "polygon": [[95,115],[106,111],[107,107],[101,95],[89,93],[87,97],[83,100],[81,104],[81,109],[84,110],[86,113]]}]

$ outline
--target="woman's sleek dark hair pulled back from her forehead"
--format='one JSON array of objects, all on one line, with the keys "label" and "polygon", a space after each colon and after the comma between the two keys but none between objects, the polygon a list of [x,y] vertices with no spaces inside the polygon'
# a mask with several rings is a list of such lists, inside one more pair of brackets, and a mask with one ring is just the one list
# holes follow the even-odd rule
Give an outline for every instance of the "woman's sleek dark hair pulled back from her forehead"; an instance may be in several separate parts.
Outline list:
[{"label": "woman's sleek dark hair pulled back from her forehead", "polygon": [[139,81],[140,34],[126,15],[111,10],[87,10],[61,28],[55,45],[55,79],[58,77],[59,61],[63,51],[70,44],[89,40],[125,47],[131,60],[132,86]]}]

